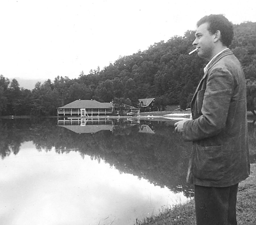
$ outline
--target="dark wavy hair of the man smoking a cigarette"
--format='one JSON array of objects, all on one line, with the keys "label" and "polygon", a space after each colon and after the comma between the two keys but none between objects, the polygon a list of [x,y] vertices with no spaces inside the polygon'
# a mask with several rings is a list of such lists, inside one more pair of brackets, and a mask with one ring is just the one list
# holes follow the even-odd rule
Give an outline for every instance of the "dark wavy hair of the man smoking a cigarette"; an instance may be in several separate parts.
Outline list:
[{"label": "dark wavy hair of the man smoking a cigarette", "polygon": [[233,36],[234,29],[233,24],[228,21],[228,19],[222,14],[214,15],[211,14],[209,16],[204,16],[201,20],[197,22],[197,27],[200,25],[208,23],[208,31],[211,34],[216,33],[217,30],[220,31],[220,41],[225,46],[230,46]]}]

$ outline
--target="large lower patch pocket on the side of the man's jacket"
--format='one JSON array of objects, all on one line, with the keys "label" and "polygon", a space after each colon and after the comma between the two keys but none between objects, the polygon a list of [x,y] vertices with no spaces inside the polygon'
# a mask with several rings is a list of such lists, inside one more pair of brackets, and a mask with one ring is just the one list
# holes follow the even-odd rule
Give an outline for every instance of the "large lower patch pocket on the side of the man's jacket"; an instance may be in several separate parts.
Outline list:
[{"label": "large lower patch pocket on the side of the man's jacket", "polygon": [[196,145],[193,174],[201,180],[218,181],[223,177],[224,160],[222,146]]}]

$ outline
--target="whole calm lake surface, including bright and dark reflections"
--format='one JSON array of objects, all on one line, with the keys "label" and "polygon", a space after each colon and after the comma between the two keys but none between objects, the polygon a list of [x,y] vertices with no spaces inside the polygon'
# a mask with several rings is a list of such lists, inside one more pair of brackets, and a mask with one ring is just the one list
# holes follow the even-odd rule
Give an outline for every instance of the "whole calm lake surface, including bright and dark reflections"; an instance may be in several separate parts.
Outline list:
[{"label": "whole calm lake surface, including bright and dark reflections", "polygon": [[187,201],[191,143],[174,122],[2,119],[0,224],[133,225]]}]

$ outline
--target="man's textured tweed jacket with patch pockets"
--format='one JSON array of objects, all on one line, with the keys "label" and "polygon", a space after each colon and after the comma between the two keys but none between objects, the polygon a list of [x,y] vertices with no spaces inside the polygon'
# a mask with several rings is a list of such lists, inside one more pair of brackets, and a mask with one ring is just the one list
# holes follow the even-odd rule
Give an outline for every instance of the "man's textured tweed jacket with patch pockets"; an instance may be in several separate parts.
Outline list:
[{"label": "man's textured tweed jacket with patch pockets", "polygon": [[191,101],[192,120],[183,138],[193,141],[187,182],[226,187],[250,172],[246,84],[240,62],[230,49],[208,66]]}]

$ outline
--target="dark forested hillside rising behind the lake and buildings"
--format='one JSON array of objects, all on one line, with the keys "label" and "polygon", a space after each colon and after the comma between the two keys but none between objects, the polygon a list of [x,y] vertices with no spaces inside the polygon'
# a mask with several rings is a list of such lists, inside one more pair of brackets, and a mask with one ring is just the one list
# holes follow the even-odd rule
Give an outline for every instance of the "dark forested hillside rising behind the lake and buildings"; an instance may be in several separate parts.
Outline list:
[{"label": "dark forested hillside rising behind the lake and buildings", "polygon": [[[248,109],[256,108],[256,23],[235,25],[230,46],[241,61],[247,79]],[[167,42],[151,45],[145,51],[123,56],[113,64],[81,72],[78,78],[56,77],[43,84],[38,82],[30,91],[19,87],[17,80],[0,77],[0,115],[55,115],[60,107],[76,99],[110,102],[129,98],[136,106],[139,98],[156,98],[156,106],[179,104],[189,106],[193,92],[203,76],[207,63],[193,49],[194,31],[183,37],[174,36]]]}]

